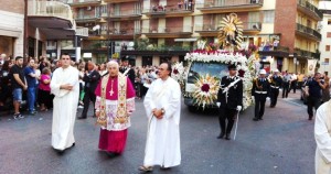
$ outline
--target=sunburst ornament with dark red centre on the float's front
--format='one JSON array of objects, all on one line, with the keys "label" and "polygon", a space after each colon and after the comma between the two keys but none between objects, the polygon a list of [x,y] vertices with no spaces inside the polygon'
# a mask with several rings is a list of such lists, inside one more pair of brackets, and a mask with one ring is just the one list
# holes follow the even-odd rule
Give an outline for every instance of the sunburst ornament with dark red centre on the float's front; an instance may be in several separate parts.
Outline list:
[{"label": "sunburst ornament with dark red centre on the float's front", "polygon": [[193,105],[202,106],[204,109],[206,105],[213,105],[217,99],[220,89],[220,80],[206,74],[200,76],[195,84],[195,91],[193,93]]}]

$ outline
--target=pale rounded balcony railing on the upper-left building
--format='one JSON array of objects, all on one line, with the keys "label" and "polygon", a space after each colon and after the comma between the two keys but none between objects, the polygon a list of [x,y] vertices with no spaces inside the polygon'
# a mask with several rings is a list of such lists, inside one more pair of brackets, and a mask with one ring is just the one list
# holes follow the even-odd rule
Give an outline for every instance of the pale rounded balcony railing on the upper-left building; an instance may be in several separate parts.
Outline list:
[{"label": "pale rounded balcony railing on the upper-left building", "polygon": [[28,15],[33,17],[55,17],[73,21],[72,9],[68,4],[57,1],[28,0]]}]

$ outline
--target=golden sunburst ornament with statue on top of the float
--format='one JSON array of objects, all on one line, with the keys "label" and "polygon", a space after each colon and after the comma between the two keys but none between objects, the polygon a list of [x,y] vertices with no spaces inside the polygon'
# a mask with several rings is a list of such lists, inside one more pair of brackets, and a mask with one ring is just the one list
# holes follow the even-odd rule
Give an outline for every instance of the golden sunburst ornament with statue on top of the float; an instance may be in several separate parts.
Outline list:
[{"label": "golden sunburst ornament with statue on top of the float", "polygon": [[243,22],[237,14],[231,13],[220,22],[218,43],[223,46],[232,46],[241,50],[243,42]]}]

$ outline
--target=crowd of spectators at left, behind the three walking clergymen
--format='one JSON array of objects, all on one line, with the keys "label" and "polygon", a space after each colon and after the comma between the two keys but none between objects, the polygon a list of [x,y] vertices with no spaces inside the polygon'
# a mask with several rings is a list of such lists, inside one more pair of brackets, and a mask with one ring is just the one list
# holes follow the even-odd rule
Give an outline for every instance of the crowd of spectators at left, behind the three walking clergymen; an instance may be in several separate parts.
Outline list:
[{"label": "crowd of spectators at left, behind the three walking clergymen", "polygon": [[[22,65],[20,63],[22,61]],[[88,73],[87,63],[72,62],[72,66],[79,70],[79,106],[84,108],[84,75]],[[106,63],[93,64],[95,70],[104,76],[107,73]],[[1,55],[0,59],[0,113],[8,111],[14,112],[13,118],[24,118],[21,112],[36,115],[38,112],[49,111],[53,106],[53,95],[51,94],[50,83],[52,73],[61,66],[57,59],[40,57],[11,57]],[[130,66],[135,70],[135,88],[137,98],[141,99],[147,93],[150,84],[158,78],[156,66]],[[17,76],[21,83],[15,79]],[[22,94],[22,98],[19,94]],[[15,95],[14,95],[15,94]],[[17,98],[15,98],[17,97]],[[19,104],[17,104],[18,101]],[[15,107],[15,105],[18,105]]]}]

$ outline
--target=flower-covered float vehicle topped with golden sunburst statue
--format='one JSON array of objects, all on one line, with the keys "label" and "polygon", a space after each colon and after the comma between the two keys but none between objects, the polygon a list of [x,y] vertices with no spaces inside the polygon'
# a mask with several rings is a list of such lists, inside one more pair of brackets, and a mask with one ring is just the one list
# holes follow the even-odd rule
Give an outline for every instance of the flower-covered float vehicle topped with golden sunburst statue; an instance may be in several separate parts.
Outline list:
[{"label": "flower-covered float vehicle topped with golden sunburst statue", "polygon": [[[188,67],[184,68],[180,63],[173,66],[172,77],[181,84],[184,102],[189,109],[216,107],[220,80],[227,75],[228,64],[237,66],[238,76],[244,83],[243,109],[253,102],[250,90],[258,57],[253,47],[241,47],[243,25],[235,13],[220,22],[217,39],[217,44],[200,39],[197,50],[185,55]],[[218,50],[220,47],[222,50]]]}]

